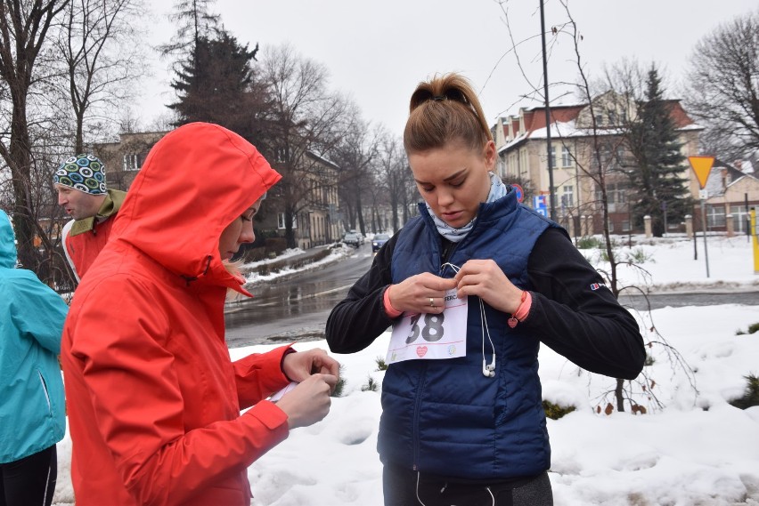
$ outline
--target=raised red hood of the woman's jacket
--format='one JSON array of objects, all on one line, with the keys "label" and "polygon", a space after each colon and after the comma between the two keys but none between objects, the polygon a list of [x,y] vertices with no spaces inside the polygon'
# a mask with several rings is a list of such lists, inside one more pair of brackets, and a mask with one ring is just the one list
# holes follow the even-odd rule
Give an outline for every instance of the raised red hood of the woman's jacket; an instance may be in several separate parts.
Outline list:
[{"label": "raised red hood of the woman's jacket", "polygon": [[151,149],[113,223],[112,238],[134,245],[188,280],[226,273],[218,251],[227,225],[282,176],[237,133],[191,123]]}]

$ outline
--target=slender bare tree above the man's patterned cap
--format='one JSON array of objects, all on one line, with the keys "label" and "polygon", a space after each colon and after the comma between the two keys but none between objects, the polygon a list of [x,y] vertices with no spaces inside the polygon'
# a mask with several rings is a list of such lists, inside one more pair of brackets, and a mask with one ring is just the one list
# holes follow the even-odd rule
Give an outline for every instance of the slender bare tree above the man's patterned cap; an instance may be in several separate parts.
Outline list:
[{"label": "slender bare tree above the man's patterned cap", "polygon": [[144,29],[137,28],[143,12],[141,0],[70,0],[66,6],[56,46],[65,64],[75,153],[85,151],[87,120],[98,113],[112,119],[132,96],[130,84],[143,76]]}]

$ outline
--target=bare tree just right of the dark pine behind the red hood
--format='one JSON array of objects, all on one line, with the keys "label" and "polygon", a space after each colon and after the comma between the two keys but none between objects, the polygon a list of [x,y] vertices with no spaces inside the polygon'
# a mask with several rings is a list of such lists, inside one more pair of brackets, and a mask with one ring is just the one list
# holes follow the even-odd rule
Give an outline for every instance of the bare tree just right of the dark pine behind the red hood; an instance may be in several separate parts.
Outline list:
[{"label": "bare tree just right of the dark pine behind the red hood", "polygon": [[265,48],[260,65],[270,100],[264,120],[270,135],[259,148],[282,173],[273,192],[281,197],[288,245],[295,247],[295,217],[318,190],[314,184],[323,181],[322,161],[354,130],[358,113],[347,99],[328,90],[326,68],[289,45]]}]

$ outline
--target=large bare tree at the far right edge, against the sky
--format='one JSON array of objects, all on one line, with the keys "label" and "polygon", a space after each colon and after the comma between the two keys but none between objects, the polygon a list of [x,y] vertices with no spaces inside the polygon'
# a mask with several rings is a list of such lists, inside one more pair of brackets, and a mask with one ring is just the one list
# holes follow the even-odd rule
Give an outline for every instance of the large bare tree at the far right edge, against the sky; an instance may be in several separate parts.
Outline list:
[{"label": "large bare tree at the far right edge, against the sky", "polygon": [[690,59],[688,107],[706,124],[706,150],[759,150],[759,11],[716,28]]}]

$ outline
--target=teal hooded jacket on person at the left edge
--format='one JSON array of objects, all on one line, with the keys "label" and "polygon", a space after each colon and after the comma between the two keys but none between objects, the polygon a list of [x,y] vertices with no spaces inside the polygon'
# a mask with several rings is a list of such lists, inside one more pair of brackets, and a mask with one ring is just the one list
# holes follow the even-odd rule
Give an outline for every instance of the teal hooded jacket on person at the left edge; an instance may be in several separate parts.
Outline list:
[{"label": "teal hooded jacket on person at the left edge", "polygon": [[16,259],[0,211],[0,463],[53,446],[66,428],[58,354],[69,306]]}]

